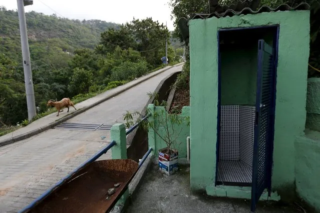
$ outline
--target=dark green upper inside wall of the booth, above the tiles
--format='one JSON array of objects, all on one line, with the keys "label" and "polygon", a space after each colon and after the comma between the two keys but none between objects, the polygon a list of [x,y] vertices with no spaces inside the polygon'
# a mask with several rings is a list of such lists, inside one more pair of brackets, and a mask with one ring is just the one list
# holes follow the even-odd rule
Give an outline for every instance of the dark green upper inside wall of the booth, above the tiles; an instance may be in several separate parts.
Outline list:
[{"label": "dark green upper inside wall of the booth, above the tiles", "polygon": [[221,104],[255,105],[257,44],[221,51]]}]

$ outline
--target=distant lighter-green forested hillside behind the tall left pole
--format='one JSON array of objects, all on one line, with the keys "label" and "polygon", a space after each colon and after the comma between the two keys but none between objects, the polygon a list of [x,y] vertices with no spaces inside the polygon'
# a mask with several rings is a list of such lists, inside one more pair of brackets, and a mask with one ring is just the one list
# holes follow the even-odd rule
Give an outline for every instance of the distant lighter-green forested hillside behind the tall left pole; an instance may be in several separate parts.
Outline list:
[{"label": "distant lighter-green forested hillside behind the tall left pole", "polygon": [[[30,54],[33,64],[38,62],[57,64],[61,57],[68,57],[76,48],[94,48],[100,34],[108,28],[120,25],[102,20],[71,20],[55,14],[26,13]],[[18,12],[0,7],[0,52],[21,61],[21,43]],[[54,57],[52,57],[55,55]]]}]

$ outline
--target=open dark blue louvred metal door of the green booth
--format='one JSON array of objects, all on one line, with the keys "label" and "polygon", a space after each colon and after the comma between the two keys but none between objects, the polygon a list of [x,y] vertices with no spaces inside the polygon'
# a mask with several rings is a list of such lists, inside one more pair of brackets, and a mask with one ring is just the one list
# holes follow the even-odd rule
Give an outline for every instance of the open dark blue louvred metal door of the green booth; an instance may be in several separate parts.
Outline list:
[{"label": "open dark blue louvred metal door of the green booth", "polygon": [[274,131],[275,53],[263,39],[258,41],[258,71],[252,163],[251,212],[262,192],[270,195]]}]

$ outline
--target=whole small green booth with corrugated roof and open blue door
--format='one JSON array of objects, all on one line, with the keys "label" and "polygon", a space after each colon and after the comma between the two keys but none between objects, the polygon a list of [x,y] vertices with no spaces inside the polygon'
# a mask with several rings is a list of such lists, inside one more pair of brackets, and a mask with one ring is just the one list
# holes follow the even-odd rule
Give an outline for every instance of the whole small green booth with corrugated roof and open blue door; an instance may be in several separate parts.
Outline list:
[{"label": "whole small green booth with corrugated roof and open blue door", "polygon": [[309,6],[245,6],[216,7],[179,26],[190,44],[191,189],[249,198],[254,211],[259,199],[295,195]]}]

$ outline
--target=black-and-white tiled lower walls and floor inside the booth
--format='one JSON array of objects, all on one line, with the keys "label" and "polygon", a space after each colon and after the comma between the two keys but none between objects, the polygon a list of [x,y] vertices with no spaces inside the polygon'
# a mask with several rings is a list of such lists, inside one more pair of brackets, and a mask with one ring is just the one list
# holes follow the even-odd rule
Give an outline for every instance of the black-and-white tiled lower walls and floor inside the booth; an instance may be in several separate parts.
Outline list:
[{"label": "black-and-white tiled lower walls and floor inside the booth", "polygon": [[252,182],[255,106],[221,105],[218,181]]}]

